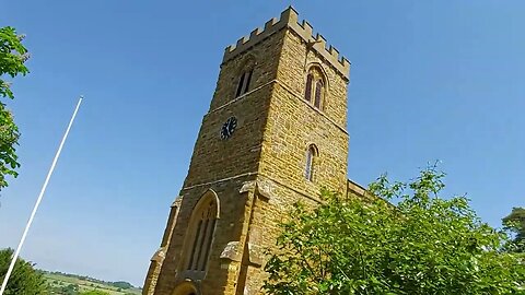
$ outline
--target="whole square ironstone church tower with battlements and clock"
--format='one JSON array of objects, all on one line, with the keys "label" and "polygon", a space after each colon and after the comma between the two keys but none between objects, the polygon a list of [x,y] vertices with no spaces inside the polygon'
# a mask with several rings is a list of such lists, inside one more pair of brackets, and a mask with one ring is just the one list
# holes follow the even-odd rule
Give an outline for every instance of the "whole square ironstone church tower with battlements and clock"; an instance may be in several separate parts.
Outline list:
[{"label": "whole square ironstone church tower with battlements and clock", "polygon": [[225,49],[143,294],[260,294],[265,249],[296,201],[348,193],[350,63],[289,8]]}]

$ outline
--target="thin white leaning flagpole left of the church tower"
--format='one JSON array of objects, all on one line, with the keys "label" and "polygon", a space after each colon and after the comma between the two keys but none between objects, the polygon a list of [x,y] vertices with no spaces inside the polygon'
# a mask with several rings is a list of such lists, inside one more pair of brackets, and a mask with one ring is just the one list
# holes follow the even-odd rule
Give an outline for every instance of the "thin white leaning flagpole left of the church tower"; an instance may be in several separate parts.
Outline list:
[{"label": "thin white leaning flagpole left of the church tower", "polygon": [[63,143],[66,142],[66,139],[68,138],[69,130],[71,129],[71,126],[73,125],[74,117],[77,117],[77,113],[79,111],[80,104],[82,103],[83,96],[81,95],[79,98],[79,103],[77,104],[77,107],[74,108],[73,116],[71,117],[71,120],[69,121],[68,129],[66,129],[66,133],[63,134],[62,141],[60,142],[60,145],[58,146],[57,154],[55,155],[55,158],[52,160],[51,167],[49,168],[49,172],[47,173],[46,180],[44,181],[44,186],[42,186],[40,194],[38,194],[38,199],[36,199],[35,208],[33,208],[33,212],[31,213],[30,221],[27,222],[27,225],[25,226],[24,234],[22,235],[22,238],[20,239],[19,247],[16,248],[16,251],[13,255],[13,260],[11,261],[11,264],[9,266],[8,273],[5,273],[5,278],[3,278],[3,283],[2,283],[2,288],[0,288],[0,295],[3,295],[3,292],[5,291],[5,287],[8,286],[8,281],[9,276],[11,276],[11,272],[13,272],[14,269],[14,263],[16,262],[16,259],[19,258],[20,250],[22,249],[22,245],[25,241],[25,237],[27,236],[27,232],[30,231],[30,226],[33,223],[33,219],[35,217],[36,211],[38,210],[38,205],[40,204],[42,198],[44,197],[44,192],[46,192],[47,184],[49,182],[49,178],[51,178],[52,170],[55,170],[55,165],[57,164],[58,157],[60,156],[60,152],[62,151]]}]

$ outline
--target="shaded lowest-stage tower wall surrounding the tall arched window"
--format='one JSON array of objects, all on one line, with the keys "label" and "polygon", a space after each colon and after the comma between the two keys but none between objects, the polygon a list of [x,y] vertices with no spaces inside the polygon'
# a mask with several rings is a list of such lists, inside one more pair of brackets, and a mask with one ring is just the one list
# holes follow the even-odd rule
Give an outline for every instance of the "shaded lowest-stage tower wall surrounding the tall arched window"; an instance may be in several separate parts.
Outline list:
[{"label": "shaded lowest-stage tower wall surrounding the tall arched window", "polygon": [[[229,181],[219,181],[212,185],[198,186],[183,189],[184,196],[182,210],[177,216],[176,225],[170,243],[170,249],[162,266],[155,295],[171,295],[175,286],[192,279],[202,294],[235,294],[235,282],[240,269],[240,256],[236,248],[234,253],[221,258],[221,253],[229,245],[244,245],[246,237],[245,224],[249,220],[248,191],[241,193],[245,182],[253,180],[253,176],[238,177]],[[198,200],[208,191],[213,190],[219,198],[219,219],[217,220],[210,258],[205,278],[192,276],[186,272],[189,244],[186,238],[190,228],[189,220],[192,209]],[[243,234],[244,233],[244,234]]]}]

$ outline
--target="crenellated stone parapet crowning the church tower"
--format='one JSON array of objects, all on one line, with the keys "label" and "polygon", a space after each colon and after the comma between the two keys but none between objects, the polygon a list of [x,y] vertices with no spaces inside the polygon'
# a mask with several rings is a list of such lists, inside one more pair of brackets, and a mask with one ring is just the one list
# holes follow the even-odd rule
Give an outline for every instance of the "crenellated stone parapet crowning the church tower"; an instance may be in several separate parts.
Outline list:
[{"label": "crenellated stone parapet crowning the church tower", "polygon": [[324,59],[326,59],[335,69],[337,69],[347,80],[350,74],[350,61],[343,56],[339,56],[339,51],[332,47],[326,48],[326,39],[317,34],[313,36],[313,27],[308,22],[302,21],[299,23],[299,13],[292,8],[289,7],[287,10],[281,12],[281,17],[277,20],[276,17],[266,22],[264,28],[257,27],[252,31],[249,36],[244,36],[237,40],[235,45],[230,45],[224,50],[224,57],[222,63],[233,59],[241,52],[244,52],[252,46],[260,43],[276,32],[281,31],[282,28],[288,27],[295,32],[305,43],[312,45],[317,54],[319,54]]}]

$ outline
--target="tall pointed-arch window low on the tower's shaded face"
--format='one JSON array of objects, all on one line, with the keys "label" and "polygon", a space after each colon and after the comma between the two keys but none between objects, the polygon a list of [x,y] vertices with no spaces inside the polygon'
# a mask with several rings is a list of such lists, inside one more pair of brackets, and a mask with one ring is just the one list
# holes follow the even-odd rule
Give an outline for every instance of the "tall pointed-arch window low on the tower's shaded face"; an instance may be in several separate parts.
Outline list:
[{"label": "tall pointed-arch window low on the tower's shaded face", "polygon": [[210,255],[218,216],[218,204],[213,193],[202,197],[191,216],[191,248],[187,270],[205,271]]}]

